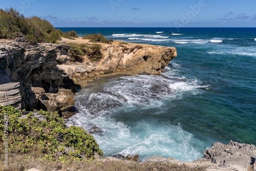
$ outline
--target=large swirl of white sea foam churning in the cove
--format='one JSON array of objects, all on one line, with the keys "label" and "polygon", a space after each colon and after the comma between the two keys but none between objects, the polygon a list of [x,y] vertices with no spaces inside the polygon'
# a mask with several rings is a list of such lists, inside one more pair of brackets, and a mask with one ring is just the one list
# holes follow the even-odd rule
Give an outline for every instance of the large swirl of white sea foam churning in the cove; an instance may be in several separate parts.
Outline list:
[{"label": "large swirl of white sea foam churning in the cove", "polygon": [[[173,63],[173,66],[179,65]],[[154,119],[135,119],[143,115],[143,111],[161,108],[164,99],[177,99],[188,93],[191,96],[201,91],[198,88],[203,86],[197,80],[185,80],[187,78],[184,77],[127,76],[113,79],[100,92],[92,93],[91,89],[94,88],[81,90],[75,96],[79,113],[69,118],[67,124],[83,126],[88,131],[93,131],[93,126],[99,127],[101,132],[93,135],[105,156],[119,153],[138,154],[141,160],[149,156],[195,160],[201,157],[203,149],[194,144],[196,142],[200,144],[197,146],[203,146],[203,142],[181,126],[164,122],[160,124]],[[156,111],[146,116],[158,114],[161,113]],[[131,127],[129,122],[126,123],[129,119],[133,120]]]}]

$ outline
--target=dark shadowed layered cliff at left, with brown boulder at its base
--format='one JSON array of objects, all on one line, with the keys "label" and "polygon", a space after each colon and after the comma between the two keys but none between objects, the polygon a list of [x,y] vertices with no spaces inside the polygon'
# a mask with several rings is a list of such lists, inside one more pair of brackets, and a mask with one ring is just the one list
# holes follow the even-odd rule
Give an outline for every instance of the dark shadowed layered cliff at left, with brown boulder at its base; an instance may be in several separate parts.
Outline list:
[{"label": "dark shadowed layered cliff at left, with brown boulder at its base", "polygon": [[[68,49],[65,45],[0,41],[0,104],[60,114],[69,110],[74,105],[73,93],[60,89],[65,87],[65,76],[56,67],[57,63],[67,61]],[[72,80],[68,83],[72,84]],[[41,88],[41,94],[34,88]]]}]

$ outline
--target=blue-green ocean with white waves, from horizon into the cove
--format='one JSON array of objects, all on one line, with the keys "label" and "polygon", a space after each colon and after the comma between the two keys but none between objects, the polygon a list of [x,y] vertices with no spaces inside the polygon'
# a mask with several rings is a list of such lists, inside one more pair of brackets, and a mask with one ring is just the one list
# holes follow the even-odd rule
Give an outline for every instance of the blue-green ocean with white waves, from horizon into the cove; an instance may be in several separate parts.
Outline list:
[{"label": "blue-green ocean with white waves, from horizon into the cove", "polygon": [[104,156],[193,161],[214,142],[256,145],[256,28],[58,28],[79,36],[175,47],[161,75],[111,78],[75,95],[68,125]]}]

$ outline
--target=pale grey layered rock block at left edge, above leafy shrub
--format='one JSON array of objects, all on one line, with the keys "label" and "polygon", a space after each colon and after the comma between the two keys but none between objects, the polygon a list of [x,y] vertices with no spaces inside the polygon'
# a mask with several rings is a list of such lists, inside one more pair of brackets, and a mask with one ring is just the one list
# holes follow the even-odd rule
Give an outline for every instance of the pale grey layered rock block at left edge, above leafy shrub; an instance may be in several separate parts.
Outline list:
[{"label": "pale grey layered rock block at left edge, above leafy shrub", "polygon": [[19,88],[19,82],[0,84],[0,105],[13,105],[16,109],[20,109],[22,96]]}]

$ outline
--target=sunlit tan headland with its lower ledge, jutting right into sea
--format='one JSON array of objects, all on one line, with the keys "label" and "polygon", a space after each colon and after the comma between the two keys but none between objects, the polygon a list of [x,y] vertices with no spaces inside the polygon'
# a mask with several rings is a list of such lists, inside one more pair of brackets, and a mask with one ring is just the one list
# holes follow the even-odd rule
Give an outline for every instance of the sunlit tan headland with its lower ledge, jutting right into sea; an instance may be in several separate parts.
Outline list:
[{"label": "sunlit tan headland with its lower ledge, jutting right into sea", "polygon": [[[92,43],[86,43],[88,46]],[[175,48],[143,44],[101,44],[102,59],[90,61],[84,56],[83,63],[76,65],[58,65],[75,82],[113,74],[160,74],[177,56]],[[79,82],[80,83],[80,82]]]}]

